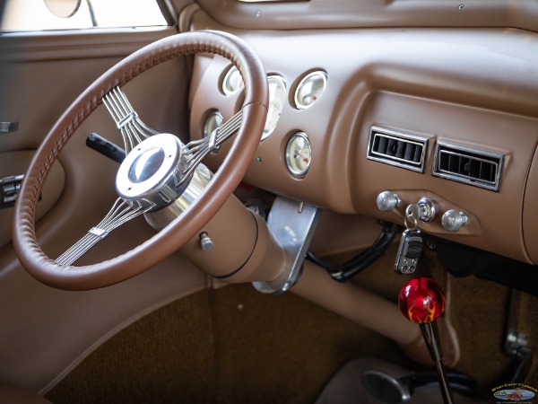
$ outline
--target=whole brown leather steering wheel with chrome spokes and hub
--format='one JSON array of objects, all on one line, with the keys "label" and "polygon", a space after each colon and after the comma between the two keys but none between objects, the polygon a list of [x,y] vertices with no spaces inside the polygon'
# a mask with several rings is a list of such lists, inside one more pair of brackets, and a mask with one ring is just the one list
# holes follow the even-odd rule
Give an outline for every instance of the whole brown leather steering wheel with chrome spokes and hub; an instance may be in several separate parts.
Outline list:
[{"label": "whole brown leather steering wheel with chrome spokes and hub", "polygon": [[[97,264],[72,266],[74,260],[89,250],[87,245],[99,242],[111,230],[132,217],[159,207],[155,206],[151,198],[148,199],[145,196],[125,198],[117,185],[121,198],[118,198],[103,222],[92,228],[80,242],[68,250],[67,255],[71,258],[49,259],[40,249],[35,232],[39,195],[53,162],[56,161],[66,142],[74,135],[74,131],[80,127],[83,120],[101,103],[105,103],[113,119],[116,120],[117,127],[124,136],[126,152],[130,152],[120,166],[120,171],[128,160],[137,160],[136,156],[130,158],[131,154],[136,153],[136,150],[131,149],[139,150],[141,147],[138,145],[144,145],[144,142],[149,141],[153,145],[159,144],[161,138],[165,143],[170,142],[170,139],[175,139],[171,141],[172,144],[178,143],[178,145],[173,145],[176,147],[173,152],[176,160],[174,160],[175,167],[172,171],[175,170],[173,176],[177,182],[176,188],[179,189],[178,194],[181,193],[181,187],[184,189],[187,186],[192,172],[204,155],[216,150],[218,145],[233,134],[229,130],[224,136],[221,134],[221,129],[217,129],[212,136],[196,142],[195,145],[181,145],[175,136],[157,134],[143,125],[121,91],[123,85],[152,66],[157,66],[174,57],[200,52],[221,55],[230,59],[238,67],[245,84],[243,108],[238,115],[230,119],[234,122],[228,125],[233,129],[233,133],[239,127],[237,135],[229,154],[202,195],[160,233],[156,233],[134,250]],[[228,33],[218,31],[181,33],[154,42],[126,57],[107,73],[101,75],[65,110],[30,162],[17,198],[13,222],[13,244],[22,266],[40,282],[66,290],[87,290],[114,285],[152,268],[194,237],[239,185],[262,136],[267,117],[267,105],[268,84],[264,67],[255,52],[244,41]],[[146,157],[143,160],[147,162]],[[146,177],[152,177],[153,173],[151,171]],[[178,179],[183,184],[181,187],[178,186]],[[138,180],[144,182],[148,179],[144,177]],[[152,179],[149,178],[149,180]],[[112,226],[109,225],[111,216],[114,224]]]}]

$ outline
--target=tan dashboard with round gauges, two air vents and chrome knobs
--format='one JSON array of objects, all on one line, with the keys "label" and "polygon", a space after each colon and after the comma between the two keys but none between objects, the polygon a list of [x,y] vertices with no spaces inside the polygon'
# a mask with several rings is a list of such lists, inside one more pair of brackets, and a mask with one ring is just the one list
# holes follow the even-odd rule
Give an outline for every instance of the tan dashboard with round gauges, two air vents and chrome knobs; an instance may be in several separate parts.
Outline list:
[{"label": "tan dashboard with round gauges, two air vents and chrome knobs", "polygon": [[[219,26],[204,13],[193,25]],[[247,183],[402,225],[406,206],[426,200],[434,212],[419,221],[425,233],[538,264],[538,35],[401,28],[233,33],[262,59],[272,93]],[[192,139],[241,108],[233,69],[221,57],[196,57]],[[224,153],[209,157],[210,168],[218,169]],[[383,192],[397,195],[398,204],[380,210]]]}]

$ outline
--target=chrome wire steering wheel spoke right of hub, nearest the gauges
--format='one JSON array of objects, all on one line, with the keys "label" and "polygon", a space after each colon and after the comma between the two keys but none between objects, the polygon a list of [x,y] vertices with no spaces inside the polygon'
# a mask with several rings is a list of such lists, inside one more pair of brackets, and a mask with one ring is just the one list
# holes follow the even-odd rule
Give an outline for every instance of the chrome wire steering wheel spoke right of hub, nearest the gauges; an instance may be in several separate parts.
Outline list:
[{"label": "chrome wire steering wheel spoke right of hub, nearest the gauges", "polygon": [[183,179],[179,181],[178,187],[190,178],[190,175],[195,171],[198,164],[204,160],[204,157],[207,154],[217,152],[221,145],[239,130],[242,120],[243,111],[239,110],[239,112],[231,117],[225,124],[213,130],[210,136],[207,136],[204,139],[194,140],[184,146],[183,154],[185,160],[182,162],[181,169],[183,172]]}]

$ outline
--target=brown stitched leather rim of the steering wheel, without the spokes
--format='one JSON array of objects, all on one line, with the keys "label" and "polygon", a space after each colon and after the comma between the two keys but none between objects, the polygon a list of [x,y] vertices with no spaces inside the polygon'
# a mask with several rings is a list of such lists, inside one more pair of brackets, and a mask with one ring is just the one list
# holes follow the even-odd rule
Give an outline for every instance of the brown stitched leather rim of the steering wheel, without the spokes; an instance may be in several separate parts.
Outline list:
[{"label": "brown stitched leather rim of the steering wheel, without the spokes", "polygon": [[[229,154],[204,194],[160,233],[114,259],[83,267],[58,265],[49,259],[36,238],[37,204],[50,167],[76,128],[114,87],[121,87],[152,66],[174,57],[202,52],[229,58],[238,67],[245,83],[241,126]],[[126,57],[101,75],[65,110],[30,162],[17,198],[13,221],[13,245],[22,266],[44,284],[65,290],[88,290],[117,284],[167,258],[209,222],[239,185],[256,153],[265,126],[268,98],[267,76],[259,58],[245,42],[224,32],[181,33],[154,42]]]}]

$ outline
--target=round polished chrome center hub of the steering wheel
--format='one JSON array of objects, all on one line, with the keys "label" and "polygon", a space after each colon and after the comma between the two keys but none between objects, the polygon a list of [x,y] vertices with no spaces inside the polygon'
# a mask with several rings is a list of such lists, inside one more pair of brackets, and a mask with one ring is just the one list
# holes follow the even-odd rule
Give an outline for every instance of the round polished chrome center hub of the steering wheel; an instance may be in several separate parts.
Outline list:
[{"label": "round polished chrome center hub of the steering wheel", "polygon": [[163,133],[148,137],[127,154],[116,176],[117,194],[127,201],[154,204],[152,210],[168,206],[178,198],[188,181],[180,170],[183,145],[178,137]]}]

